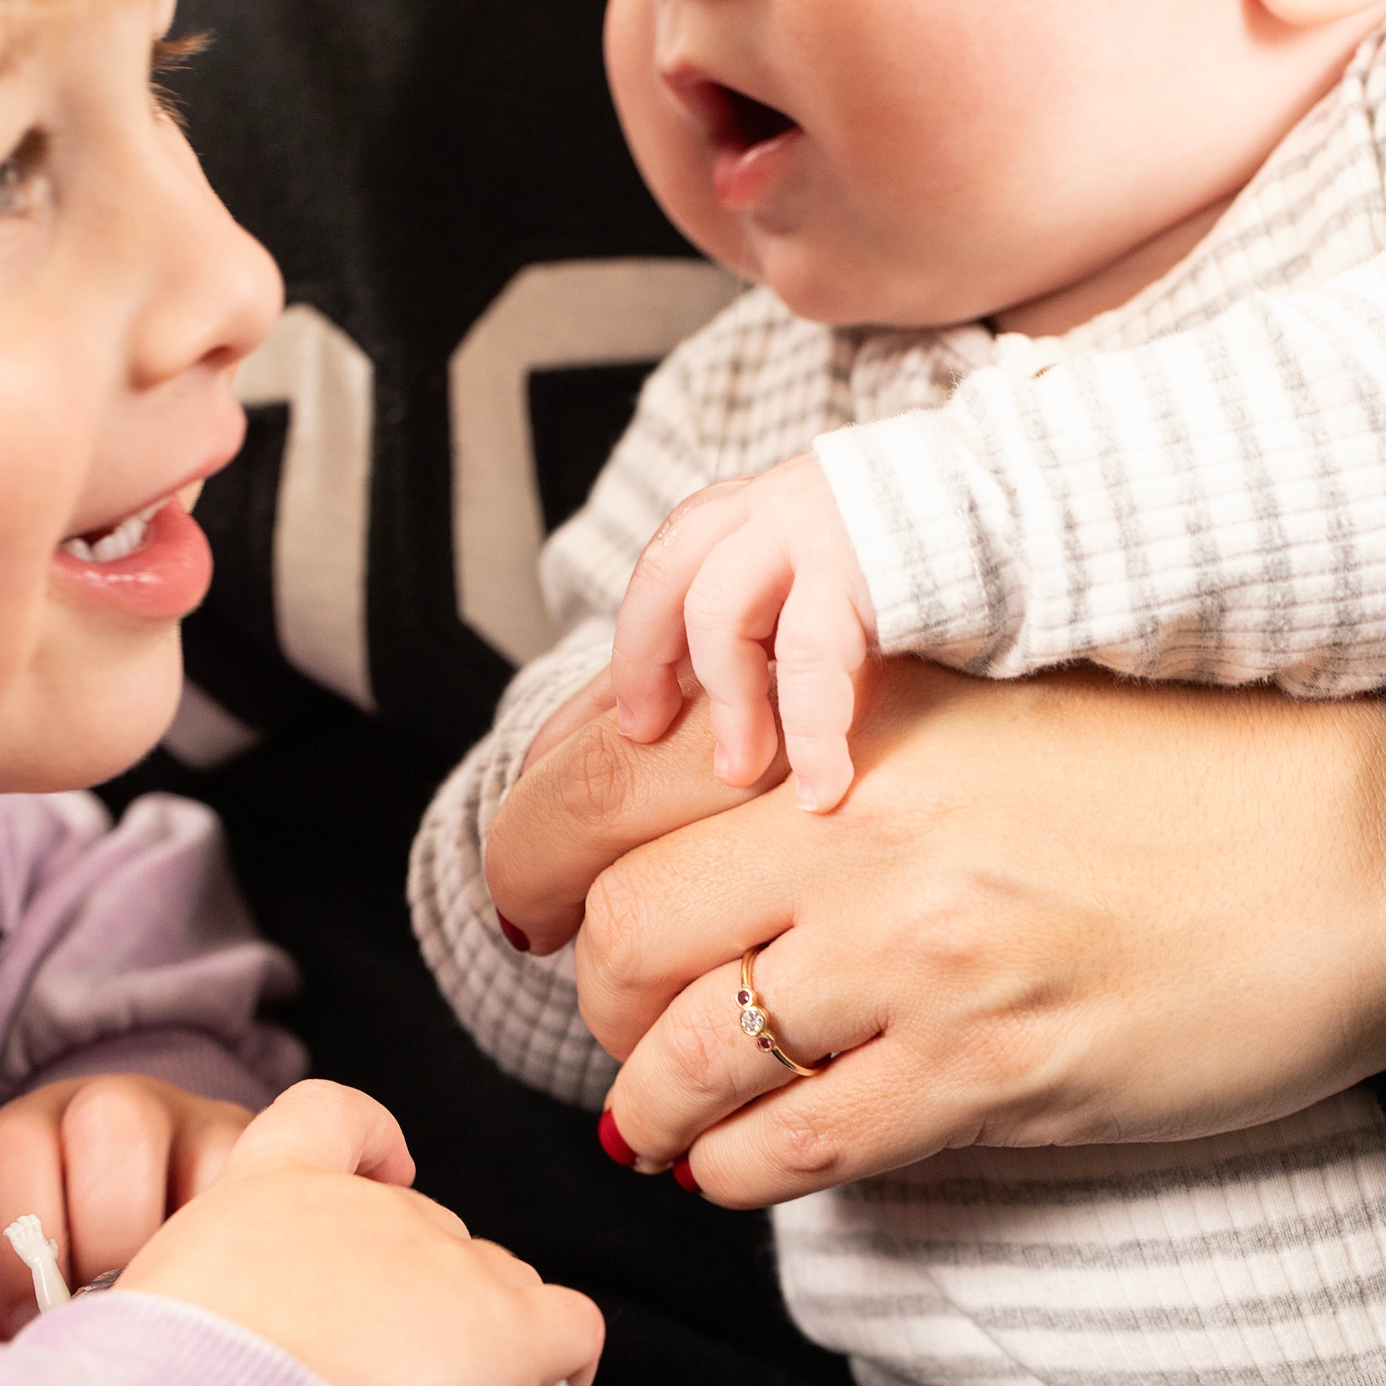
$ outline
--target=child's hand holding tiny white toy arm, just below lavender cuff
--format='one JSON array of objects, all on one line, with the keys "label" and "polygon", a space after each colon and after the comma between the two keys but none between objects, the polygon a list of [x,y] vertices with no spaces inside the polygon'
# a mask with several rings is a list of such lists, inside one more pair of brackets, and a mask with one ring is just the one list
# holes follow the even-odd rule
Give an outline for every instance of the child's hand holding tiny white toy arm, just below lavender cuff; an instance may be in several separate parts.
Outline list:
[{"label": "child's hand holding tiny white toy arm, just below lavender cuff", "polygon": [[[37,1214],[72,1289],[118,1270],[207,1188],[251,1120],[133,1074],[51,1082],[0,1107],[0,1227]],[[33,1315],[33,1278],[0,1242],[0,1331]]]}]

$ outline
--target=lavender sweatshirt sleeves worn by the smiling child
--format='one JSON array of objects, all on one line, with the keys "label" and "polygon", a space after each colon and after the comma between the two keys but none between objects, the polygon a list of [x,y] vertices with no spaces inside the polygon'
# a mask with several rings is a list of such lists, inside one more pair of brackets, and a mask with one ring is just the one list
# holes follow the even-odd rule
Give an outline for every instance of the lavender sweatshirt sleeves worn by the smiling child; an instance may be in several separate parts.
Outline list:
[{"label": "lavender sweatshirt sleeves worn by the smiling child", "polygon": [[[298,1041],[256,1019],[292,985],[202,805],[151,794],[112,826],[90,794],[0,796],[0,1102],[141,1073],[263,1106],[306,1069]],[[82,1296],[0,1347],[0,1386],[49,1383],[323,1386],[227,1319],[121,1290]]]}]

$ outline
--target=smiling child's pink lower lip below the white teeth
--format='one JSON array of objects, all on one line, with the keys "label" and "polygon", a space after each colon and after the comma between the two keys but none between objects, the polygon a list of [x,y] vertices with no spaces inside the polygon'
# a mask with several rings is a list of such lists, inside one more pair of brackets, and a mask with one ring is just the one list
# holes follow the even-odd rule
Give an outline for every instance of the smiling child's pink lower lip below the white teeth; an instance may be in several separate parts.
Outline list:
[{"label": "smiling child's pink lower lip below the white teeth", "polygon": [[[121,546],[115,552],[119,554]],[[98,563],[78,545],[57,549],[53,581],[76,606],[144,621],[177,621],[207,596],[212,552],[197,521],[170,496],[150,516],[143,543],[133,552]]]}]

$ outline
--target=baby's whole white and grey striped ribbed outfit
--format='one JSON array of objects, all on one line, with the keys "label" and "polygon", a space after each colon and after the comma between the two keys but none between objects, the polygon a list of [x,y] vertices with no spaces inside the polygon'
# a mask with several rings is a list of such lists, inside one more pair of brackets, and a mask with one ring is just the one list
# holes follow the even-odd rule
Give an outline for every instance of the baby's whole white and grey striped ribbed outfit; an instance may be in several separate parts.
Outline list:
[{"label": "baby's whole white and grey striped ribbed outfit", "polygon": [[[1383,97],[1374,39],[1182,265],[1063,338],[834,331],[757,290],[669,358],[545,553],[570,636],[414,850],[426,955],[502,1067],[592,1107],[615,1071],[571,949],[500,940],[481,844],[708,482],[812,444],[890,650],[1386,683]],[[866,1386],[1386,1382],[1386,1120],[1361,1091],[1207,1141],[948,1152],[786,1204],[776,1234],[797,1321]]]}]

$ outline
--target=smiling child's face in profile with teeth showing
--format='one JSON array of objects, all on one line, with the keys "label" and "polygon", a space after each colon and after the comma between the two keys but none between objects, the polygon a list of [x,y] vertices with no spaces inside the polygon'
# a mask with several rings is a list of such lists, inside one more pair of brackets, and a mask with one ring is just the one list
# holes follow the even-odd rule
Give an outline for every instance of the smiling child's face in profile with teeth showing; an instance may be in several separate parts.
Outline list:
[{"label": "smiling child's face in profile with teeth showing", "polygon": [[168,723],[211,575],[173,498],[240,448],[231,376],[281,302],[151,93],[169,18],[0,0],[0,790]]}]

